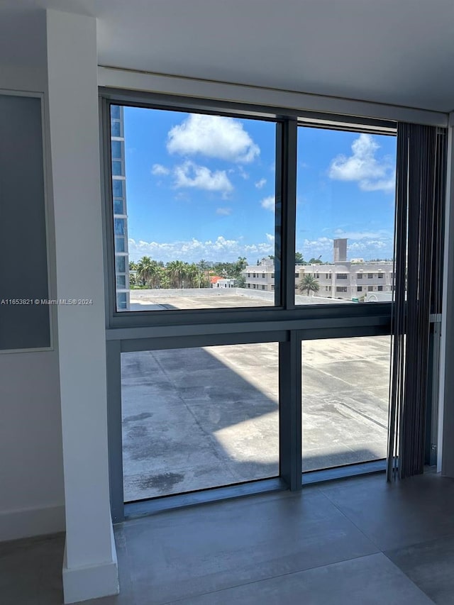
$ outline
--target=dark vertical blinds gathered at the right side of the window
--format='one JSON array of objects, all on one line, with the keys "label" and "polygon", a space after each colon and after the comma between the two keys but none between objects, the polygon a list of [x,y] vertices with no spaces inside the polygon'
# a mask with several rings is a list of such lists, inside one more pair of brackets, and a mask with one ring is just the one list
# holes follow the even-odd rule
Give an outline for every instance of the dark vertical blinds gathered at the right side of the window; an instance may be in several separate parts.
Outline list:
[{"label": "dark vertical blinds gathered at the right side of the window", "polygon": [[441,304],[445,132],[397,129],[388,480],[423,472],[431,311]]}]

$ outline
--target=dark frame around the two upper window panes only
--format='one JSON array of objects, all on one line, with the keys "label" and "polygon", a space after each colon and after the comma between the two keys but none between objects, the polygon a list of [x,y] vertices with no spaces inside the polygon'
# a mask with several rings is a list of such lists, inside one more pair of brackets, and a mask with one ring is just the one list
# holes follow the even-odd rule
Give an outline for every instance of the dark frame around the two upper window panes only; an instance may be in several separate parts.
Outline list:
[{"label": "dark frame around the two upper window panes only", "polygon": [[[110,174],[110,112],[109,106],[138,106],[148,109],[164,109],[167,111],[179,111],[182,113],[206,113],[211,115],[223,115],[236,118],[255,118],[258,120],[268,120],[277,123],[277,128],[281,132],[278,133],[277,139],[277,162],[276,167],[276,189],[277,198],[282,199],[280,219],[282,228],[282,251],[281,251],[281,267],[280,277],[276,276],[275,290],[277,291],[276,300],[280,304],[275,304],[272,307],[253,307],[245,308],[238,307],[236,309],[194,309],[194,310],[167,310],[167,311],[116,311],[114,293],[114,274],[112,275],[111,255],[114,250],[111,242],[111,234],[109,228],[105,228],[105,257],[106,257],[106,292],[108,292],[107,311],[107,326],[111,328],[140,328],[148,325],[153,326],[170,326],[181,325],[187,323],[218,323],[223,319],[226,322],[245,321],[256,318],[269,319],[273,318],[289,318],[290,313],[292,318],[312,318],[312,316],[332,317],[338,316],[338,309],[333,309],[333,305],[317,305],[317,309],[306,309],[305,307],[294,304],[294,279],[299,277],[299,273],[295,273],[295,277],[290,278],[291,269],[294,267],[294,230],[296,223],[296,155],[297,155],[297,129],[304,128],[304,119],[313,119],[314,112],[306,112],[306,116],[301,116],[301,113],[294,110],[284,108],[270,108],[266,106],[248,106],[242,104],[232,104],[228,102],[189,99],[187,97],[175,97],[161,94],[138,93],[135,91],[118,91],[116,89],[100,89],[100,105],[101,105],[101,134],[103,136],[103,189],[104,189],[104,223],[108,226],[111,223],[111,174]],[[321,117],[321,114],[318,114]],[[396,124],[391,121],[372,121],[355,119],[345,116],[326,116],[331,121],[336,121],[336,126],[331,126],[331,123],[306,123],[310,128],[329,128],[340,130],[351,130],[355,128],[358,132],[369,132],[380,135],[395,135]],[[345,126],[343,126],[345,123]],[[280,193],[280,195],[279,195]],[[277,223],[277,221],[276,221]],[[284,233],[285,232],[285,233]],[[285,250],[284,250],[285,248]],[[110,265],[110,266],[109,266]],[[286,270],[284,270],[286,267]],[[275,273],[279,273],[275,271]],[[280,296],[278,296],[280,294]],[[368,304],[369,306],[372,303]],[[390,314],[391,308],[384,309],[386,303],[375,303],[380,306],[380,311],[371,309],[359,309],[358,304],[352,303],[349,315],[353,316],[382,316],[383,313]],[[342,307],[345,309],[346,304]],[[345,309],[345,311],[347,311]],[[290,312],[290,313],[289,313]],[[341,313],[345,315],[345,313]]]}]

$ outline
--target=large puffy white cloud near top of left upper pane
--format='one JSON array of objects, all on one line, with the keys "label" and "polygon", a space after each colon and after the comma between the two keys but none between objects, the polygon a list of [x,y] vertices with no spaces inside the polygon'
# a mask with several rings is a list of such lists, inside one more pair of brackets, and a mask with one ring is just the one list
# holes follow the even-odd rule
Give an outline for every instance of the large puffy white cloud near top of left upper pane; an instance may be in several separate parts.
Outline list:
[{"label": "large puffy white cloud near top of left upper pane", "polygon": [[230,162],[252,162],[260,148],[235,118],[192,113],[170,129],[167,151],[182,155],[200,153]]}]

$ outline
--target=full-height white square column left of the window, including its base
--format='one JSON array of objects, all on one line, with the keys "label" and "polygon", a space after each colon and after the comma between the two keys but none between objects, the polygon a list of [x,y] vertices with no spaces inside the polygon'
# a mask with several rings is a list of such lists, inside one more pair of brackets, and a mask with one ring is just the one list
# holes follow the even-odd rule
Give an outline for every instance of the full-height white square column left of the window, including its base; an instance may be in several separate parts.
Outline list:
[{"label": "full-height white square column left of the window, including its base", "polygon": [[118,592],[109,504],[96,20],[47,13],[66,549],[65,603]]}]

